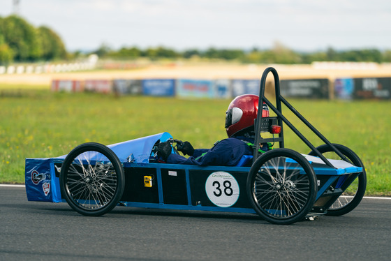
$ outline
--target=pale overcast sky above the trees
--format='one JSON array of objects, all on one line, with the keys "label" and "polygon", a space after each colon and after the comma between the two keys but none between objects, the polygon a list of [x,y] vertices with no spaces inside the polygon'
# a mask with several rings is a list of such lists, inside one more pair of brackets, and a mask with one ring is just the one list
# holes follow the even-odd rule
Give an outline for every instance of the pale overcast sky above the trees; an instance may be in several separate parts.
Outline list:
[{"label": "pale overcast sky above the trees", "polygon": [[[0,16],[13,13],[0,0]],[[122,46],[391,50],[390,0],[20,0],[19,15],[45,25],[67,50]]]}]

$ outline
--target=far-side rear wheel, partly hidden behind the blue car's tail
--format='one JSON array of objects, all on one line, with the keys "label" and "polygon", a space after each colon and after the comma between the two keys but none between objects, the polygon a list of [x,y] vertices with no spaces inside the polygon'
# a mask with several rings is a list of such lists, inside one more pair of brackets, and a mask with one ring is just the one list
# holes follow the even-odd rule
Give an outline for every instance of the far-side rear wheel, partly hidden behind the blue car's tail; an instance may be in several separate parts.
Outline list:
[{"label": "far-side rear wheel, partly hidden behind the blue car's tail", "polygon": [[[340,195],[337,200],[332,204],[332,206],[327,209],[327,216],[341,216],[349,213],[358,204],[360,204],[362,197],[364,197],[365,190],[367,189],[367,174],[365,173],[364,164],[360,158],[355,154],[351,149],[345,147],[341,144],[333,144],[339,151],[341,151],[346,158],[349,159],[350,163],[357,166],[362,167],[362,172],[354,179],[354,181],[348,186],[342,186],[342,190],[344,193]],[[323,144],[317,147],[318,151],[325,156],[325,158],[329,159],[338,159],[341,160],[341,157],[335,153],[330,146],[327,144]],[[317,156],[315,151],[311,151],[309,153],[311,156]],[[354,174],[351,174],[354,175]]]}]

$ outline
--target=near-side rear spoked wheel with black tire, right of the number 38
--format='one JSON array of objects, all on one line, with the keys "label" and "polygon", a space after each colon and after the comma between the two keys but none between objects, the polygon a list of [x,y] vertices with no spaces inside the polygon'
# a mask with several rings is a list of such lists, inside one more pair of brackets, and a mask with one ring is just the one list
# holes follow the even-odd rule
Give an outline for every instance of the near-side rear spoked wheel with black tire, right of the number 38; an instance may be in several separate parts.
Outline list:
[{"label": "near-side rear spoked wheel with black tire, right of the number 38", "polygon": [[265,221],[291,224],[302,221],[318,192],[313,167],[291,149],[273,149],[260,156],[247,177],[253,209]]}]

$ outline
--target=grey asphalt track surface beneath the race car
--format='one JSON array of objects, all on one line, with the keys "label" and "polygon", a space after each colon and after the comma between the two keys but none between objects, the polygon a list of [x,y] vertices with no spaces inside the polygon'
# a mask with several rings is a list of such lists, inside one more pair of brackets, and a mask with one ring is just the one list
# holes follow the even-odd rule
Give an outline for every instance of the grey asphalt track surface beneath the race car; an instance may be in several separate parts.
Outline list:
[{"label": "grey asphalt track surface beneath the race car", "polygon": [[0,186],[0,260],[391,260],[391,200],[272,225],[253,214],[116,207],[86,217]]}]

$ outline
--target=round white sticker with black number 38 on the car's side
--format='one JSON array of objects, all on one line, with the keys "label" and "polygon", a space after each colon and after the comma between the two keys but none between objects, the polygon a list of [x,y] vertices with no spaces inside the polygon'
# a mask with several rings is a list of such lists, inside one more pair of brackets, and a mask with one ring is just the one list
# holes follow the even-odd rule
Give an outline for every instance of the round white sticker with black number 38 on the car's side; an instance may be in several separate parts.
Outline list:
[{"label": "round white sticker with black number 38 on the car's side", "polygon": [[239,198],[239,184],[228,172],[213,172],[205,182],[207,197],[217,207],[231,207]]}]

